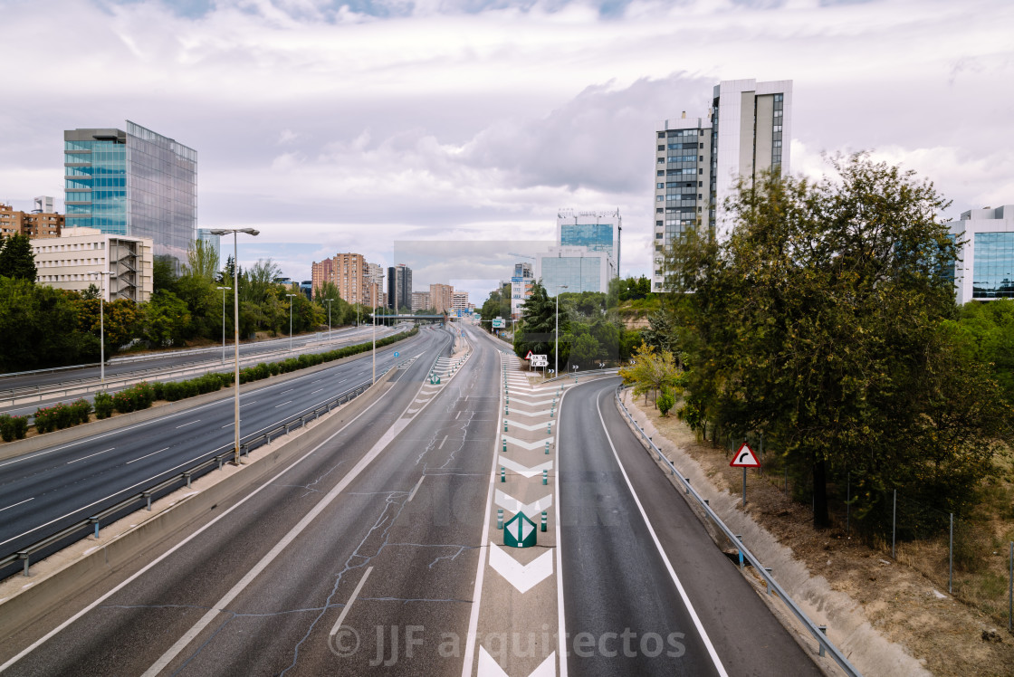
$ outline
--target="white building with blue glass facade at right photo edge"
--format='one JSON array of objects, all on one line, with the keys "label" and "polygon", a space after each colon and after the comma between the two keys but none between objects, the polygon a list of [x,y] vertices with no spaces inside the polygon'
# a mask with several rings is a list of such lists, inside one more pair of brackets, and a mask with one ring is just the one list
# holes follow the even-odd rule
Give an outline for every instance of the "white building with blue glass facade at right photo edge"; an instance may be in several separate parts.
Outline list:
[{"label": "white building with blue glass facade at right photo edge", "polygon": [[954,264],[957,302],[1014,298],[1014,205],[963,212],[950,230],[961,243]]}]

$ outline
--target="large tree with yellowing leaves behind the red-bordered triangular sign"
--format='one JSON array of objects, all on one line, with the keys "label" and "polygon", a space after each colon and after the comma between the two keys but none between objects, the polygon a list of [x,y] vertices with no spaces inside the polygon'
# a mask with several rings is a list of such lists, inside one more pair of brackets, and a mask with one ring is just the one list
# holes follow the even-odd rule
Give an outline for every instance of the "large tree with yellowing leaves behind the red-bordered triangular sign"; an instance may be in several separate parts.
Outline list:
[{"label": "large tree with yellowing leaves behind the red-bordered triangular sign", "polygon": [[942,331],[955,312],[947,203],[865,154],[831,165],[834,179],[740,182],[727,241],[691,230],[674,242],[687,399],[727,437],[777,443],[811,480],[816,528],[829,523],[828,482],[850,471],[867,510],[899,485],[933,485],[954,508],[967,493],[937,469],[981,470],[1004,415]]}]

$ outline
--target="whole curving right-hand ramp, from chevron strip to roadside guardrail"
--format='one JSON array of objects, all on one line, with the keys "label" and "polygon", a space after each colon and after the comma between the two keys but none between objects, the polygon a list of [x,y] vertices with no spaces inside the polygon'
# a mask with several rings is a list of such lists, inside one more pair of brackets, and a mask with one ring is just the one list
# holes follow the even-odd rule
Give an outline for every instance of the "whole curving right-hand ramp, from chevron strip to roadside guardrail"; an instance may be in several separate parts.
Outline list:
[{"label": "whole curving right-hand ramp, from chevron strip to roadside guardrail", "polygon": [[820,675],[624,423],[619,383],[561,410],[566,625],[593,638],[571,674]]}]

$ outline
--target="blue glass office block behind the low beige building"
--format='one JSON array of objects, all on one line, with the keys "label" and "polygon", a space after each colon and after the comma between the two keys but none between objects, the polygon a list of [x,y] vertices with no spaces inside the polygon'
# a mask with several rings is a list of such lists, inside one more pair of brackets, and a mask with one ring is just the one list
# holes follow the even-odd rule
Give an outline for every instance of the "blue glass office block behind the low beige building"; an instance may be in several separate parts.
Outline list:
[{"label": "blue glass office block behind the low beige building", "polygon": [[197,235],[197,151],[126,127],[64,132],[66,225],[150,237],[178,266]]}]

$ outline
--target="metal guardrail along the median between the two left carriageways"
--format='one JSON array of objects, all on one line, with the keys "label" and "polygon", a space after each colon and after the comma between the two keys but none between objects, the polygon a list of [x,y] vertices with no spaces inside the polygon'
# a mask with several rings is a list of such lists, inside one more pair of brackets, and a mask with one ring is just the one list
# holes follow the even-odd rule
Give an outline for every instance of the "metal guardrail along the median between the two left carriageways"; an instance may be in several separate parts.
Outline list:
[{"label": "metal guardrail along the median between the two left carriageways", "polygon": [[[382,376],[386,374],[389,370],[390,368],[384,369],[383,371],[380,372],[379,375]],[[312,408],[303,409],[298,413],[292,415],[288,419],[284,419],[282,423],[273,425],[270,430],[265,431],[264,429],[262,429],[261,431],[252,433],[244,440],[240,441],[239,455],[248,456],[251,450],[262,447],[266,444],[270,444],[272,441],[278,439],[282,435],[288,435],[293,430],[298,430],[299,428],[305,426],[310,421],[316,421],[318,418],[320,418],[322,413],[331,411],[332,408],[334,408],[335,406],[345,404],[346,402],[355,399],[356,397],[364,393],[367,389],[369,389],[370,385],[371,385],[370,381],[364,381],[354,386],[353,388],[350,388],[338,395],[335,395],[332,398],[324,400],[322,403],[317,404]],[[161,498],[161,496],[164,496],[164,494],[168,494],[170,491],[174,491],[176,488],[179,488],[180,486],[189,487],[191,485],[191,480],[194,479],[195,477],[200,477],[213,469],[220,470],[222,466],[225,464],[225,462],[235,455],[235,450],[232,445],[229,445],[227,451],[223,451],[217,454],[215,453],[215,451],[210,451],[207,454],[203,454],[203,456],[207,456],[209,454],[215,454],[215,455],[207,460],[195,463],[194,465],[187,468],[183,472],[174,474],[171,477],[168,477],[167,479],[162,479],[161,481],[153,483],[150,486],[146,487],[145,490],[139,492],[138,494],[134,494],[133,496],[124,499],[120,503],[117,503],[116,505],[111,506],[102,510],[101,512],[95,513],[94,515],[88,517],[87,519],[75,522],[74,524],[71,524],[70,526],[63,528],[60,531],[57,531],[56,533],[50,536],[47,536],[46,538],[35,541],[34,543],[28,545],[27,547],[19,548],[18,550],[16,550],[11,554],[8,554],[4,557],[0,557],[0,571],[3,571],[4,568],[20,559],[23,560],[24,562],[23,574],[24,576],[28,576],[28,567],[30,565],[30,559],[32,555],[54,548],[55,546],[57,546],[57,544],[62,543],[64,541],[67,541],[66,544],[69,544],[72,541],[68,541],[68,539],[71,536],[80,533],[82,531],[90,532],[94,530],[95,537],[97,538],[99,526],[101,525],[102,522],[104,522],[108,518],[115,517],[120,513],[124,513],[124,511],[127,511],[128,509],[132,508],[133,506],[139,503],[146,503],[148,510],[151,510],[152,498]],[[80,539],[78,538],[75,540],[80,540]],[[48,552],[46,554],[48,554]]]}]

